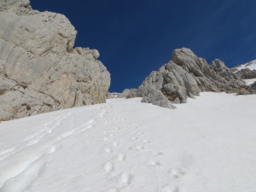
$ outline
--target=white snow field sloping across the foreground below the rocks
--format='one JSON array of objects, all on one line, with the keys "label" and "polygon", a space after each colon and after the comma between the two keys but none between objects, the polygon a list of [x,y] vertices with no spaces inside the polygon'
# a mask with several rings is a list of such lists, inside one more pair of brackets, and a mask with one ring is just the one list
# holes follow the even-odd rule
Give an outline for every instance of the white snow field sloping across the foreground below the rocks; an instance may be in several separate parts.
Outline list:
[{"label": "white snow field sloping across the foreground below the rocks", "polygon": [[256,96],[141,98],[0,124],[1,192],[255,192]]}]

